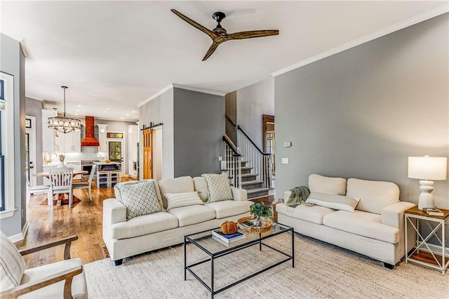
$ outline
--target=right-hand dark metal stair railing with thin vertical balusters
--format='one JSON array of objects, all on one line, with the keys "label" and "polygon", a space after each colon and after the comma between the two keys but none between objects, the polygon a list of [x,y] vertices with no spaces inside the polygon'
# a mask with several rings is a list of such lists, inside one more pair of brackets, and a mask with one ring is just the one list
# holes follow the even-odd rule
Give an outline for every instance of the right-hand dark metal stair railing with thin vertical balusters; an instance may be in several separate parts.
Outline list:
[{"label": "right-hand dark metal stair railing with thin vertical balusters", "polygon": [[241,155],[245,157],[247,163],[256,171],[257,179],[264,182],[264,187],[271,189],[272,170],[270,168],[272,166],[272,154],[262,152],[239,125],[237,125],[237,145],[241,149]]}]

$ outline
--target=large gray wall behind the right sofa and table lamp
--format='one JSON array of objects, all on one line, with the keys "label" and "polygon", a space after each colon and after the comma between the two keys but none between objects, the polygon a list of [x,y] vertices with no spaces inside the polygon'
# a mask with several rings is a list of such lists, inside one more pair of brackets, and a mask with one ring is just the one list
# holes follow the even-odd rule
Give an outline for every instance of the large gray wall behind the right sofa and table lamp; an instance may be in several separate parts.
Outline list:
[{"label": "large gray wall behind the right sofa and table lamp", "polygon": [[[417,203],[408,157],[449,157],[448,20],[440,15],[275,78],[276,197],[319,173],[396,182],[401,200]],[[434,187],[436,205],[449,208],[448,180]]]}]

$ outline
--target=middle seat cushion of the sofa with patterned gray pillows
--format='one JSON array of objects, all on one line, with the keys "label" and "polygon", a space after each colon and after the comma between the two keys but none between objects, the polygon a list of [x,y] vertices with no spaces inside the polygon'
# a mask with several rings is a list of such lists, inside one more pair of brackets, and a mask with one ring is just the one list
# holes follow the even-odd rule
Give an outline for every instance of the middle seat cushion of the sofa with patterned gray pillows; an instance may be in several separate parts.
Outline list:
[{"label": "middle seat cushion of the sofa with patterned gray pillows", "polygon": [[168,213],[177,218],[180,227],[194,225],[215,218],[215,210],[199,204],[172,208]]}]

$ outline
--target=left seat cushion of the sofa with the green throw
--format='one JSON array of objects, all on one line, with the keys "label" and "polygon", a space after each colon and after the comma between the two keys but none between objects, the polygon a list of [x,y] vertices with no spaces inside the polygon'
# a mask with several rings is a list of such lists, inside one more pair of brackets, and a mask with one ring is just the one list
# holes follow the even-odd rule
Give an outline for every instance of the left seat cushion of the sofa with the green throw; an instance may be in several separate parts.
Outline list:
[{"label": "left seat cushion of the sofa with the green throw", "polygon": [[333,213],[335,210],[324,206],[304,206],[302,204],[292,208],[291,206],[286,206],[286,204],[276,204],[276,212],[321,225],[323,224],[324,215]]}]

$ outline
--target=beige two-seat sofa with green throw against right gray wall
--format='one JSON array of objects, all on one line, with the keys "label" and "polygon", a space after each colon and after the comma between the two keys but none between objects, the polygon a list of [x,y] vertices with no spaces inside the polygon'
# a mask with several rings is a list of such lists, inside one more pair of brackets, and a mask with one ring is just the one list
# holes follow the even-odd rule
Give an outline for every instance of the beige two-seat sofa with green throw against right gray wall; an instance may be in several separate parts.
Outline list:
[{"label": "beige two-seat sofa with green throw against right gray wall", "polygon": [[[321,201],[315,200],[318,204],[314,206],[300,205],[295,208],[277,204],[280,223],[294,227],[295,232],[305,236],[380,260],[390,269],[403,258],[404,211],[415,204],[399,201],[396,184],[310,175],[309,189],[311,196],[307,202],[314,201],[314,198]],[[285,202],[290,194],[290,191],[284,192]],[[335,198],[341,201],[335,204]],[[344,211],[351,210],[342,205],[349,202],[347,200],[356,204],[354,212]],[[408,238],[408,248],[411,248],[413,239],[413,235]]]}]

